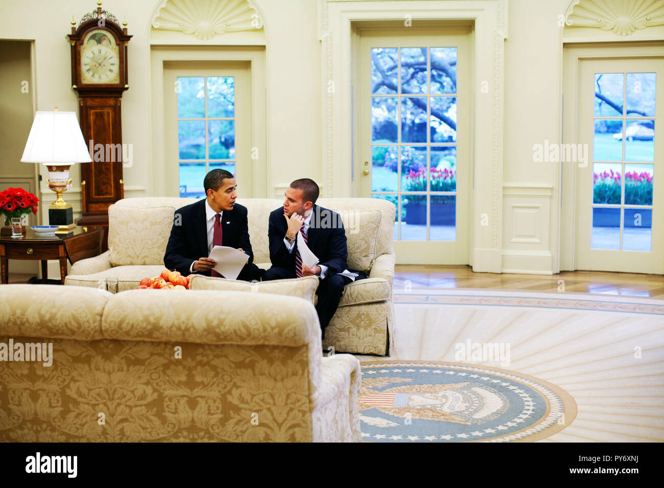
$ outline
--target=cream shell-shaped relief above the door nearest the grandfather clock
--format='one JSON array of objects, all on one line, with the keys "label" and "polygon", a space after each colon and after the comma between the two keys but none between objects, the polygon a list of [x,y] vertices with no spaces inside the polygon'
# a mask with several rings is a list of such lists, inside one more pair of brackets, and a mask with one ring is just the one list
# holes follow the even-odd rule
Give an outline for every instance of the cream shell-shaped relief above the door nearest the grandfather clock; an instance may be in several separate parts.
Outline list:
[{"label": "cream shell-shaped relief above the door nearest the grandfather clock", "polygon": [[165,0],[152,27],[207,41],[228,32],[262,29],[263,22],[247,0]]}]

